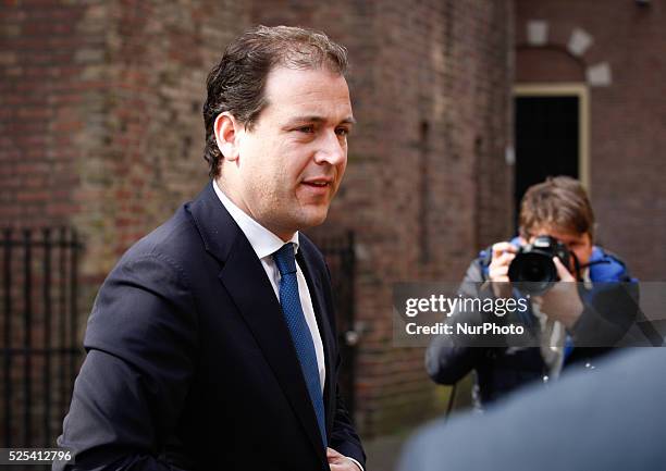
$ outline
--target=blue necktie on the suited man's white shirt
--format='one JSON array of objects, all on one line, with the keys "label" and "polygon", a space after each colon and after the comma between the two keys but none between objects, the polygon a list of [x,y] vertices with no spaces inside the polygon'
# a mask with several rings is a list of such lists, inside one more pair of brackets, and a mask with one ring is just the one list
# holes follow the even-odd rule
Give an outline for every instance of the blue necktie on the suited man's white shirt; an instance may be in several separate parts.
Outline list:
[{"label": "blue necktie on the suited man's white shirt", "polygon": [[296,355],[300,362],[300,370],[305,377],[308,393],[312,400],[319,431],[326,446],[326,429],[324,422],[323,397],[321,395],[321,383],[319,381],[319,368],[317,367],[317,354],[310,329],[305,320],[300,296],[298,295],[298,281],[296,278],[296,257],[294,244],[288,243],[273,253],[273,259],[280,270],[280,305],[284,319],[292,334],[292,342],[296,348]]}]

